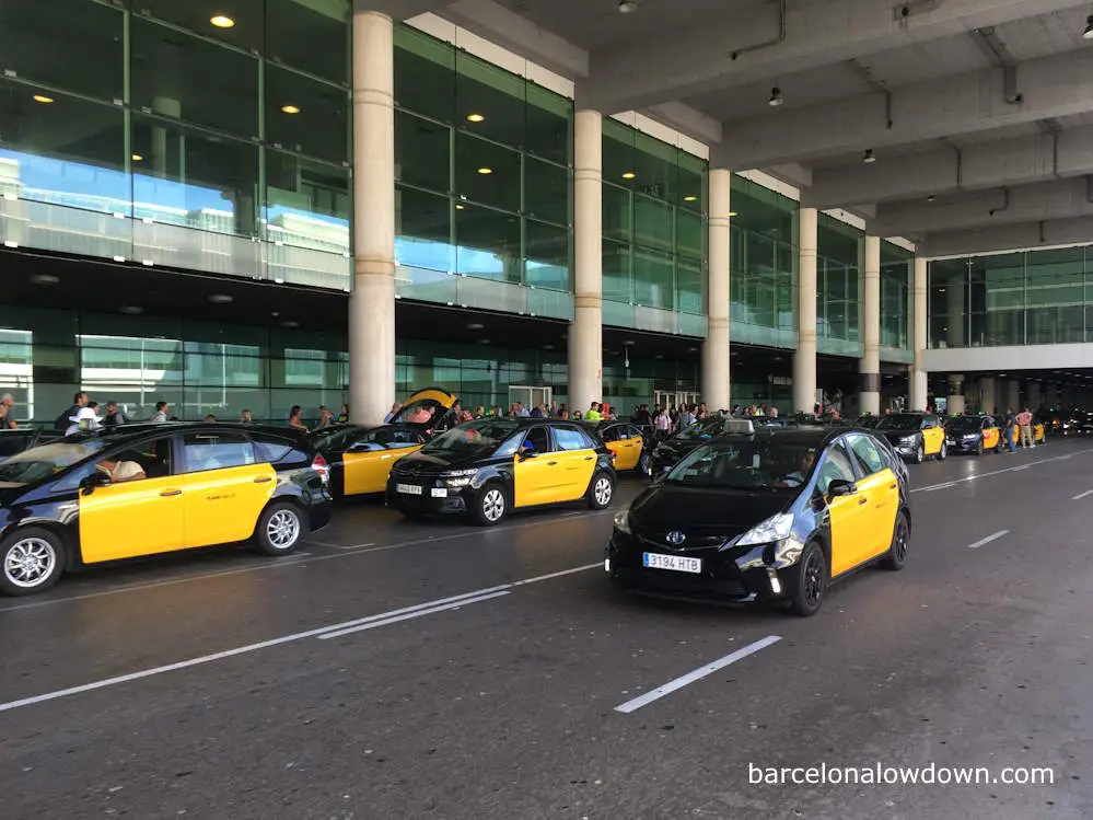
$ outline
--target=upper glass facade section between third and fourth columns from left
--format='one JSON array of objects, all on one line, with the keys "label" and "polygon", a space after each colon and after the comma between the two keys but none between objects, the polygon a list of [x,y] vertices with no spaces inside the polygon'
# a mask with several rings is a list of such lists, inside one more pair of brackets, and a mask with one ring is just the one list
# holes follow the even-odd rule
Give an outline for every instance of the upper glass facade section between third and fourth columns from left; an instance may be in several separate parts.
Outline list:
[{"label": "upper glass facade section between third and fourth columns from left", "polygon": [[735,174],[731,201],[732,340],[794,348],[798,203]]}]

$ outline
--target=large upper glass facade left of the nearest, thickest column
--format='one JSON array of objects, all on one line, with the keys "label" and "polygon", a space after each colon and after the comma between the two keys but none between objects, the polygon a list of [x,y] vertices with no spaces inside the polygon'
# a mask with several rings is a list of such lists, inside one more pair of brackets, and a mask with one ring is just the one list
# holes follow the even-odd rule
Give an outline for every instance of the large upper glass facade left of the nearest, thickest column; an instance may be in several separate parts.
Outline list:
[{"label": "large upper glass facade left of the nearest, thickest column", "polygon": [[0,240],[349,289],[348,0],[232,7],[0,0]]}]

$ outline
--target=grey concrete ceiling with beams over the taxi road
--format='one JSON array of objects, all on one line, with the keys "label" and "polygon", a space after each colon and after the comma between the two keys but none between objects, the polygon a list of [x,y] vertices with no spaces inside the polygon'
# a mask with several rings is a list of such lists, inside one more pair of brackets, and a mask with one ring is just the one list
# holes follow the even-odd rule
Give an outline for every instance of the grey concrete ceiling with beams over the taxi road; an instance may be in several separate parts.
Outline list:
[{"label": "grey concrete ceiling with beams over the taxi road", "polygon": [[637,2],[419,5],[570,77],[579,105],[648,113],[709,143],[711,163],[792,178],[805,205],[925,253],[1093,220],[1089,0]]}]

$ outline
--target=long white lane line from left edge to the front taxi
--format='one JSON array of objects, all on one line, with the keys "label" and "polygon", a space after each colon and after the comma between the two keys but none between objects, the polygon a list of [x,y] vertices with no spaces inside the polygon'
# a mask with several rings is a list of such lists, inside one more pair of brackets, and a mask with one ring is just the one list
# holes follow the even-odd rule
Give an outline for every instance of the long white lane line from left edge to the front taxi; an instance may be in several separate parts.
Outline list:
[{"label": "long white lane line from left edge to the front taxi", "polygon": [[[341,553],[342,555],[345,553]],[[338,557],[338,556],[329,556]],[[501,584],[497,587],[489,587],[487,589],[476,589],[473,592],[464,592],[458,596],[451,596],[449,598],[441,598],[434,601],[425,601],[422,603],[416,603],[411,607],[403,607],[402,609],[392,610],[389,612],[381,612],[375,615],[369,615],[368,617],[360,617],[353,621],[342,621],[337,624],[328,624],[326,626],[318,626],[314,630],[307,630],[305,632],[295,632],[291,635],[282,635],[277,638],[270,638],[269,640],[259,640],[256,644],[246,644],[245,646],[237,646],[233,649],[224,649],[223,651],[213,652],[211,655],[202,655],[197,658],[189,658],[188,660],[181,660],[175,663],[167,663],[161,667],[153,667],[151,669],[142,669],[137,672],[130,672],[128,674],[119,674],[114,678],[105,678],[101,681],[93,681],[91,683],[84,683],[79,686],[69,686],[68,689],[59,689],[54,692],[46,692],[40,695],[32,695],[31,697],[22,697],[18,701],[9,701],[8,703],[0,703],[0,713],[11,712],[12,709],[22,708],[24,706],[33,706],[37,703],[46,703],[48,701],[56,701],[60,697],[68,697],[70,695],[82,694],[84,692],[93,692],[98,689],[106,689],[107,686],[116,686],[121,683],[129,683],[131,681],[138,681],[143,678],[152,678],[158,674],[164,674],[166,672],[175,672],[179,669],[187,669],[189,667],[202,666],[205,663],[212,663],[217,660],[223,660],[225,658],[233,658],[237,655],[247,655],[249,652],[256,652],[261,649],[268,649],[274,646],[280,646],[281,644],[291,644],[295,640],[303,640],[304,638],[318,637],[321,635],[326,635],[327,633],[335,633],[338,631],[347,630],[347,627],[353,627],[361,624],[369,624],[367,628],[371,628],[371,625],[385,626],[388,623],[397,623],[398,621],[405,620],[405,617],[416,617],[418,614],[428,614],[427,610],[440,612],[447,609],[455,609],[464,603],[474,603],[479,600],[488,600],[489,598],[499,598],[502,594],[509,594],[509,591],[513,588],[526,584],[535,584],[537,581],[547,580],[549,578],[557,578],[559,575],[570,575],[572,573],[586,571],[602,566],[602,564],[588,564],[580,567],[572,567],[571,569],[563,570],[562,573],[551,573],[550,575],[543,575],[536,578],[526,578],[523,580],[512,581],[510,584]],[[449,604],[449,605],[444,605]],[[349,630],[353,632],[356,630]],[[332,637],[334,637],[332,635]]]}]

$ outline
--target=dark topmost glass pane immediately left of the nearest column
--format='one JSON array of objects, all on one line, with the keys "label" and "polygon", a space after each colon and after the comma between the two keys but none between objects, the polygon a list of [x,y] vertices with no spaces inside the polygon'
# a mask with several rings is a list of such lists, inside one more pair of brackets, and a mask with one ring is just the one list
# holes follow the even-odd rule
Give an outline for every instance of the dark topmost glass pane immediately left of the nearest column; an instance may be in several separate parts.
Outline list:
[{"label": "dark topmost glass pane immediately left of the nearest column", "polygon": [[266,53],[277,62],[348,84],[349,3],[266,0]]}]

